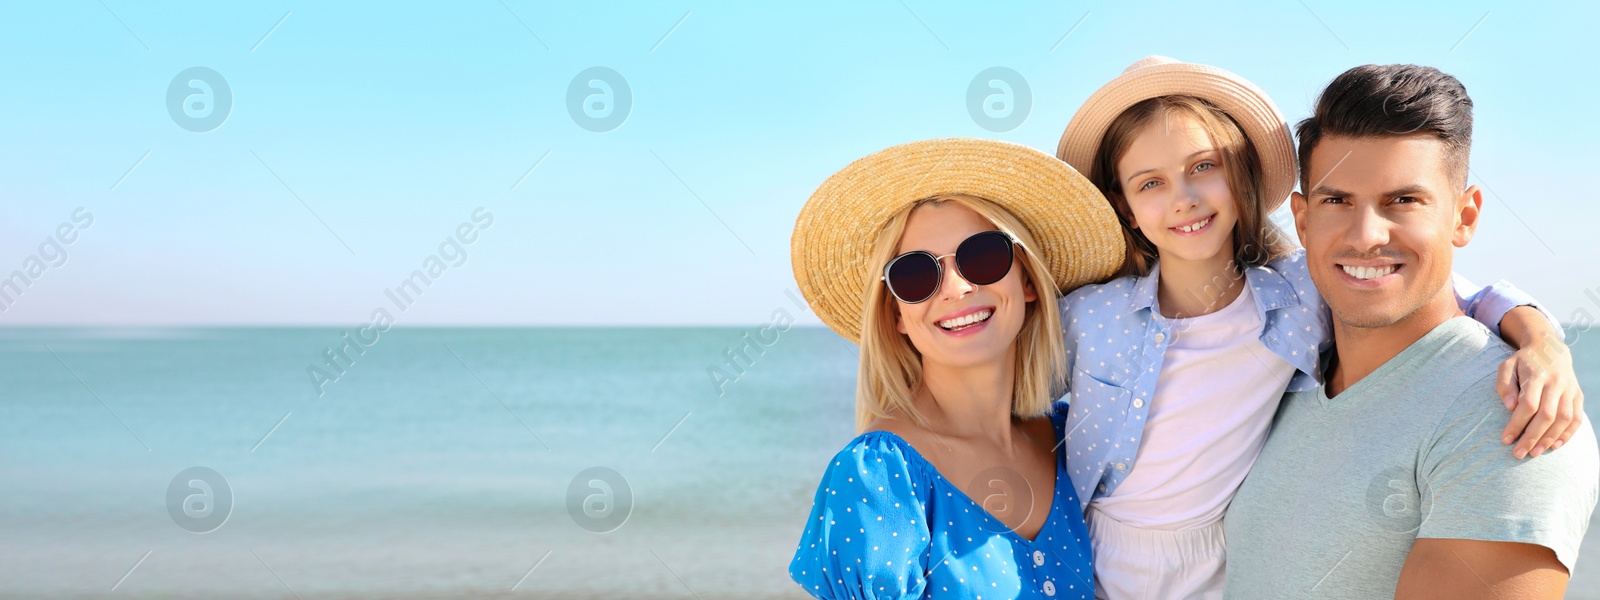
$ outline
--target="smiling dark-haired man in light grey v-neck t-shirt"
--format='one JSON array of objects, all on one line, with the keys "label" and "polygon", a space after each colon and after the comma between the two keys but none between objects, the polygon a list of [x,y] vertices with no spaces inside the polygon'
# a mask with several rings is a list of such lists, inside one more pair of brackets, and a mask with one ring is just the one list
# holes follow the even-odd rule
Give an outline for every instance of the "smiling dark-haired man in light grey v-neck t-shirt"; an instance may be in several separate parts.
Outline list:
[{"label": "smiling dark-haired man in light grey v-neck t-shirt", "polygon": [[1478,224],[1472,99],[1432,67],[1355,67],[1298,126],[1294,226],[1334,317],[1323,386],[1288,394],[1229,509],[1238,598],[1560,598],[1600,490],[1587,419],[1518,459],[1496,365],[1461,315]]}]

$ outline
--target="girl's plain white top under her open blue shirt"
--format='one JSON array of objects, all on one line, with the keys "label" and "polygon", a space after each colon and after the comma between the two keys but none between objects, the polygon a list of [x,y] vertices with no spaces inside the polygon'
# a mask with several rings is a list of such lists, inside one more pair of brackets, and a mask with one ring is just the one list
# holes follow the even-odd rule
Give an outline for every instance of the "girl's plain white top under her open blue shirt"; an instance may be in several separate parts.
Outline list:
[{"label": "girl's plain white top under her open blue shirt", "polygon": [[1261,344],[1245,285],[1222,310],[1173,318],[1133,470],[1091,504],[1125,525],[1197,530],[1222,518],[1267,442],[1294,366]]}]

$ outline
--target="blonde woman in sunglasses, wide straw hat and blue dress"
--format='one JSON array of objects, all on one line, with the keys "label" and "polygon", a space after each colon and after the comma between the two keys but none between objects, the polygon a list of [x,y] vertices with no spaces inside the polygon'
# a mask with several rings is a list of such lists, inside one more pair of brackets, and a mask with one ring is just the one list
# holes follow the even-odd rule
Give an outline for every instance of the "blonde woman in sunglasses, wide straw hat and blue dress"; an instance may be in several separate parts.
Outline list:
[{"label": "blonde woman in sunglasses, wide straw hat and blue dress", "polygon": [[896,146],[795,222],[795,280],[861,344],[861,435],[818,486],[789,574],[819,598],[1090,598],[1088,531],[1056,448],[1058,290],[1117,272],[1117,221],[1053,157]]}]

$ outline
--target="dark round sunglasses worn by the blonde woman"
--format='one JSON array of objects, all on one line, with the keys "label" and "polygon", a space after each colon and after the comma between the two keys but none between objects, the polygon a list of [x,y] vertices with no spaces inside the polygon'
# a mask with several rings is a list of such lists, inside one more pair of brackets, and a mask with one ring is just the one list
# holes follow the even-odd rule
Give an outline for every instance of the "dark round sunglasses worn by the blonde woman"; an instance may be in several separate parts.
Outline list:
[{"label": "dark round sunglasses worn by the blonde woman", "polygon": [[[990,285],[1011,272],[1011,245],[1021,243],[1011,234],[990,230],[973,234],[955,246],[955,272],[971,285]],[[918,304],[933,298],[944,280],[944,256],[917,250],[896,256],[883,266],[883,282],[894,299]]]}]

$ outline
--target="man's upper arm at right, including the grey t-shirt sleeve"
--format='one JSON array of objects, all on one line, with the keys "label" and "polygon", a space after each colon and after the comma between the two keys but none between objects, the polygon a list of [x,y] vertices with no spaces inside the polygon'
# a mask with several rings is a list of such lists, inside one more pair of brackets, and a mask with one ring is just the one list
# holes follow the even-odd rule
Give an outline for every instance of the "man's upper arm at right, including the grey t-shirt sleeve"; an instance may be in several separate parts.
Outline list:
[{"label": "man's upper arm at right, including the grey t-shirt sleeve", "polygon": [[1600,498],[1600,448],[1586,419],[1566,448],[1518,461],[1498,440],[1504,410],[1478,379],[1422,450],[1422,522],[1397,597],[1562,597]]}]

